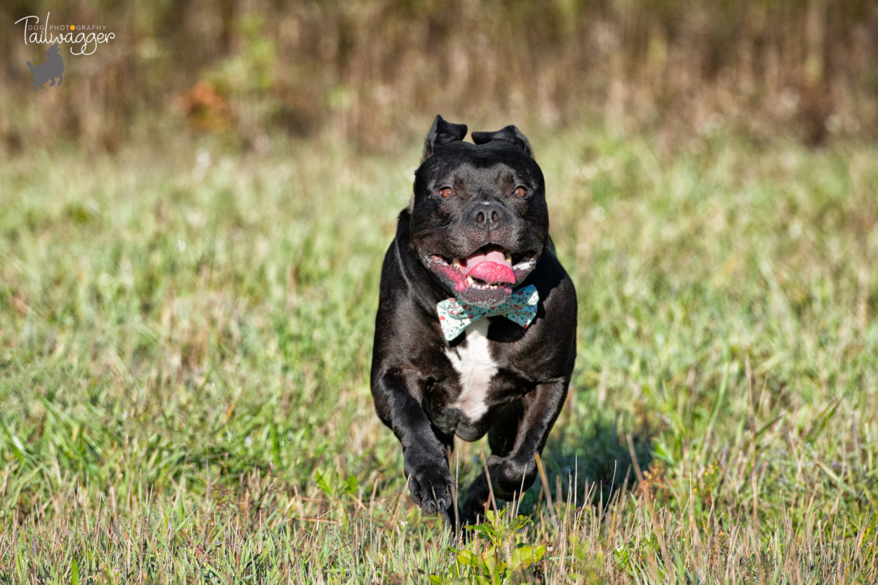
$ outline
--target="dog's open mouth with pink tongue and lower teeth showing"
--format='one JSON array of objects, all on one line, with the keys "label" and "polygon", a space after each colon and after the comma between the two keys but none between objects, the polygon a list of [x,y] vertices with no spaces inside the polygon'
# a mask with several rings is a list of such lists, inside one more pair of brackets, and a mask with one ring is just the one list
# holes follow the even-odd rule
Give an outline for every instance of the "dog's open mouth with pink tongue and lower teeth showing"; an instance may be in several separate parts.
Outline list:
[{"label": "dog's open mouth with pink tongue and lower teeth showing", "polygon": [[454,286],[456,296],[482,305],[505,300],[513,286],[533,271],[538,255],[537,250],[512,252],[488,244],[469,256],[431,254],[425,258],[425,264]]}]

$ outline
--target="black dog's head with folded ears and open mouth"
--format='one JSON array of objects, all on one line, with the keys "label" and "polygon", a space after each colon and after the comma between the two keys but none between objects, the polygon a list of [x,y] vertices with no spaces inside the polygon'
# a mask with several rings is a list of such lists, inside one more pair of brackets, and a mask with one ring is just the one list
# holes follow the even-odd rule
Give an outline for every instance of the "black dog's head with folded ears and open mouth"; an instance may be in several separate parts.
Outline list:
[{"label": "black dog's head with folded ears and open mouth", "polygon": [[508,299],[543,253],[543,173],[515,126],[473,132],[436,116],[410,204],[412,247],[450,292],[487,307]]}]

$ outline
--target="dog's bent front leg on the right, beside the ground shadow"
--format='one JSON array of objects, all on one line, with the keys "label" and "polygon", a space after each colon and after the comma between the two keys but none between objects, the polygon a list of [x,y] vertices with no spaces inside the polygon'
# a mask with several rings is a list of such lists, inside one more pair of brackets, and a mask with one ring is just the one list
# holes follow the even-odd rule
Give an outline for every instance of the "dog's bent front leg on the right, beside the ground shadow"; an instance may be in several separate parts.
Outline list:
[{"label": "dog's bent front leg on the right, beside the ground shadow", "polygon": [[488,440],[494,452],[486,461],[488,475],[481,473],[467,491],[462,516],[466,524],[479,521],[492,491],[497,498],[512,500],[515,494],[533,485],[534,455],[543,451],[549,431],[564,406],[569,383],[570,379],[565,378],[536,386],[522,398],[522,408],[508,408],[507,417],[489,431]]}]

